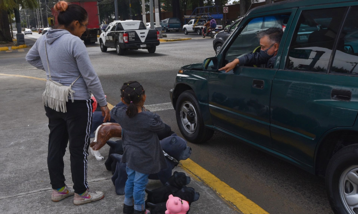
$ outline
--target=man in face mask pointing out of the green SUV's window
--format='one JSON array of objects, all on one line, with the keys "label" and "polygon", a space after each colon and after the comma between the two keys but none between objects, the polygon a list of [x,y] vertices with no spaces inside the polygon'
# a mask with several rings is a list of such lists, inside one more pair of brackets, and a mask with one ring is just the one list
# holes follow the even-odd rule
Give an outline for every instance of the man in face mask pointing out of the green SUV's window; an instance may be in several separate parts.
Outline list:
[{"label": "man in face mask pointing out of the green SUV's window", "polygon": [[248,66],[264,64],[265,67],[268,68],[274,67],[283,34],[284,31],[277,27],[271,27],[265,31],[261,31],[257,34],[257,37],[260,39],[260,51],[238,57],[220,68],[219,71],[225,70],[225,72],[229,72],[238,64]]}]

